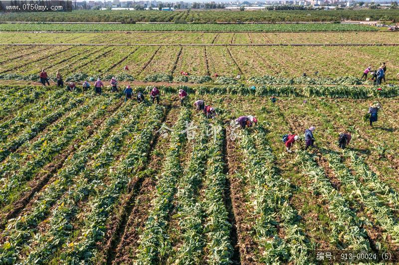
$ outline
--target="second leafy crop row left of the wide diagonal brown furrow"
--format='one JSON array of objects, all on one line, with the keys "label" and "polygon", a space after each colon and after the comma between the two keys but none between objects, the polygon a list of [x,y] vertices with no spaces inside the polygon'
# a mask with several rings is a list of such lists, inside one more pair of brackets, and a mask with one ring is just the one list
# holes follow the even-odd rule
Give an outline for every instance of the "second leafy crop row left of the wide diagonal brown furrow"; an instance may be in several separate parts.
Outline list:
[{"label": "second leafy crop row left of the wide diagonal brown furrow", "polygon": [[[119,131],[112,132],[107,142],[103,144],[101,149],[93,156],[94,163],[86,167],[79,176],[74,179],[74,186],[70,188],[66,196],[63,196],[54,209],[51,211],[49,219],[50,227],[45,234],[34,238],[30,243],[35,249],[29,252],[25,259],[26,263],[39,260],[46,262],[49,257],[68,239],[72,233],[72,220],[79,212],[79,204],[85,198],[91,198],[105,187],[108,176],[108,168],[118,164],[118,155],[123,155],[123,146],[126,141],[133,137],[138,131],[138,121],[141,117],[143,106],[139,106],[134,114],[129,114],[128,108],[124,107],[122,112],[118,114],[112,121],[116,124],[118,119],[123,119],[123,124]],[[70,246],[69,246],[70,247]]]}]

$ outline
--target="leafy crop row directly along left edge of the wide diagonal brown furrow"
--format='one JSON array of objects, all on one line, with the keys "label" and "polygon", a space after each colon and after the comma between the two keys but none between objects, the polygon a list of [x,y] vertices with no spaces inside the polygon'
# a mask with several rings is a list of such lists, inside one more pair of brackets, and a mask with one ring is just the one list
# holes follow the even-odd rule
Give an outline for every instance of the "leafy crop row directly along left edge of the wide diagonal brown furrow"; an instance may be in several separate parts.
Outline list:
[{"label": "leafy crop row directly along left edge of the wide diagonal brown furrow", "polygon": [[129,142],[129,148],[123,160],[109,175],[109,181],[104,190],[89,202],[90,212],[85,217],[82,232],[76,242],[67,242],[60,256],[65,264],[89,261],[96,255],[96,243],[104,238],[109,214],[116,207],[120,196],[126,192],[127,186],[138,169],[143,168],[147,153],[151,147],[151,140],[156,128],[160,126],[160,120],[164,115],[164,109],[158,105],[147,109],[148,119],[145,124],[139,126],[138,132]]}]

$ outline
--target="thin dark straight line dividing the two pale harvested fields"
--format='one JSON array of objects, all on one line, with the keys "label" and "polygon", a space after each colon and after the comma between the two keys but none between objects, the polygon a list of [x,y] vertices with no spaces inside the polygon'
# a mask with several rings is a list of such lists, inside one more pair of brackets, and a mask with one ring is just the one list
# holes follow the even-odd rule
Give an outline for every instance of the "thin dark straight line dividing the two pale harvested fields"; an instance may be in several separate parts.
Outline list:
[{"label": "thin dark straight line dividing the two pale harvested fields", "polygon": [[399,46],[399,43],[0,43],[0,46]]}]

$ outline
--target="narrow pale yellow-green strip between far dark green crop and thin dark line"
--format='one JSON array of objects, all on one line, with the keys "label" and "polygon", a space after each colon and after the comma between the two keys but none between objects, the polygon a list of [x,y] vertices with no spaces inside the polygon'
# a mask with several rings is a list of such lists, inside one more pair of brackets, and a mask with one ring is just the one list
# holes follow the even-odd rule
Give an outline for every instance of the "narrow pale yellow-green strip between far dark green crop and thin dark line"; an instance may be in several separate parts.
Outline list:
[{"label": "narrow pale yellow-green strip between far dark green crop and thin dark line", "polygon": [[[40,44],[394,44],[398,34],[392,32],[142,32],[107,33],[24,33],[2,32],[2,44],[25,43],[38,46],[13,46],[15,53],[5,54],[3,61],[27,57],[43,52]],[[232,36],[234,35],[234,39]],[[75,38],[66,42],[66,38]],[[111,40],[112,39],[112,40]],[[213,41],[214,39],[214,41]],[[231,42],[233,40],[233,42]],[[212,42],[213,41],[213,42]],[[25,48],[26,47],[26,48]],[[244,46],[245,47],[245,46]],[[7,51],[9,46],[2,46]],[[87,47],[86,47],[87,48]],[[243,47],[241,47],[243,48]],[[26,49],[26,50],[25,50]]]}]

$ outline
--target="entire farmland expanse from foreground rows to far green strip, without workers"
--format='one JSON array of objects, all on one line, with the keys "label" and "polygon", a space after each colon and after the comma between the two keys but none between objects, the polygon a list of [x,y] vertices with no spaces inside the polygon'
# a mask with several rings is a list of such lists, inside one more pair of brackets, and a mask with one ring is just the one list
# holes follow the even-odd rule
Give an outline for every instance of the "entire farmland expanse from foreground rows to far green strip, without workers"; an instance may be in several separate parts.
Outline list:
[{"label": "entire farmland expanse from foreground rows to far green strip, without workers", "polygon": [[[112,28],[124,31],[95,32]],[[397,32],[338,23],[0,31],[0,264],[316,264],[317,250],[398,251]],[[361,80],[382,62],[386,82]],[[50,86],[38,83],[43,68]],[[57,71],[78,89],[56,87]],[[149,99],[154,86],[160,104]],[[195,110],[199,99],[215,119]],[[243,115],[257,126],[234,128]],[[316,146],[305,150],[311,126]],[[292,153],[287,133],[300,136]]]}]

